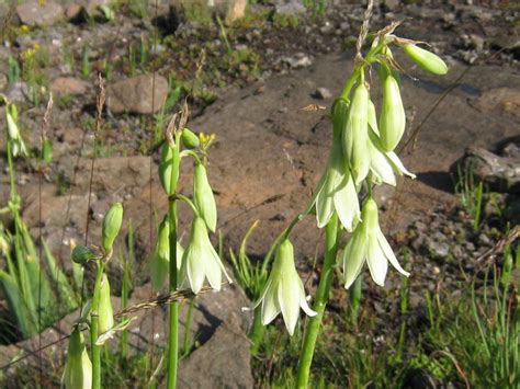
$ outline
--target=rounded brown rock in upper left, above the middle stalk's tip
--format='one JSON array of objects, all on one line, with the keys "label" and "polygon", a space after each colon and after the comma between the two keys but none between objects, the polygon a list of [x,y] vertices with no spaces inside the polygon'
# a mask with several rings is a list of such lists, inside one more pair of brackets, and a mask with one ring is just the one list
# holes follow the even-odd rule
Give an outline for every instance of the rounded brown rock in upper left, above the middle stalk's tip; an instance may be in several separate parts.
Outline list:
[{"label": "rounded brown rock in upper left, above the middle stalk's tip", "polygon": [[162,76],[156,76],[152,93],[152,75],[144,75],[109,85],[106,89],[106,106],[114,114],[123,112],[152,114],[159,112],[168,95],[168,81]]}]

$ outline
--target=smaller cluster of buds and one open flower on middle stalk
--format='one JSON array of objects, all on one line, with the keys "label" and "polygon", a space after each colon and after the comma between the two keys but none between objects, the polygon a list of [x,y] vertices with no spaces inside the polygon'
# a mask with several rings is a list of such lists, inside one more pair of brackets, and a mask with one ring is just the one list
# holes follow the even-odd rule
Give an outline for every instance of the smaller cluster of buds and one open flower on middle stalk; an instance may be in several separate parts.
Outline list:
[{"label": "smaller cluster of buds and one open flower on middle stalk", "polygon": [[[159,176],[162,187],[170,196],[177,196],[190,205],[194,217],[190,238],[185,250],[177,242],[177,268],[178,287],[191,288],[197,294],[204,286],[207,278],[210,286],[219,290],[222,285],[222,274],[230,282],[228,274],[222,263],[222,260],[213,248],[208,237],[208,230],[216,231],[217,209],[213,190],[207,179],[206,168],[194,149],[205,151],[214,140],[214,135],[201,135],[197,137],[188,128],[182,129],[174,145],[165,142],[159,164]],[[186,150],[180,151],[180,145]],[[194,158],[193,173],[193,198],[177,194],[177,181],[179,179],[179,167],[182,157],[191,156]],[[156,249],[150,259],[151,282],[155,289],[160,289],[168,274],[170,261],[170,234],[171,225],[168,217],[159,226],[159,233]]]}]

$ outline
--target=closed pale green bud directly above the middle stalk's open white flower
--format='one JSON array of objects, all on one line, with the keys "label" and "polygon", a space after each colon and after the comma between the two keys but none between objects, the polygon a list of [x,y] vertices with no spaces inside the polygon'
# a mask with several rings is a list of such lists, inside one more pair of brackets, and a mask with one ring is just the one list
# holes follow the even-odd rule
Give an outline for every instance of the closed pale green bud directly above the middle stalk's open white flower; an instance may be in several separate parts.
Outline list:
[{"label": "closed pale green bud directly above the middle stalk's open white flower", "polygon": [[193,174],[193,201],[207,228],[215,232],[217,222],[215,197],[207,181],[206,168],[202,163],[195,165]]}]

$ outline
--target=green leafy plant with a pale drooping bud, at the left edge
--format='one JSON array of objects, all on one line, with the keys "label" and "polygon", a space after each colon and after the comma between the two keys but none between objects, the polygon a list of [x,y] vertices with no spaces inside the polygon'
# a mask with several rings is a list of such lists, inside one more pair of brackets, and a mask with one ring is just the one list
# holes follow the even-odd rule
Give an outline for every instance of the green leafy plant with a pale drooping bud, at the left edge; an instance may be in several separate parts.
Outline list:
[{"label": "green leafy plant with a pale drooping bud, at the left edge", "polygon": [[[42,266],[34,241],[23,221],[21,197],[15,186],[14,158],[26,157],[25,144],[18,126],[18,110],[8,103],[5,108],[7,157],[10,175],[10,201],[2,213],[10,213],[14,231],[0,226],[1,254],[7,266],[0,270],[0,285],[7,297],[15,328],[23,337],[43,331],[46,327],[78,306],[67,276],[59,270],[50,250],[42,242],[47,270]],[[60,304],[56,304],[60,301]]]}]

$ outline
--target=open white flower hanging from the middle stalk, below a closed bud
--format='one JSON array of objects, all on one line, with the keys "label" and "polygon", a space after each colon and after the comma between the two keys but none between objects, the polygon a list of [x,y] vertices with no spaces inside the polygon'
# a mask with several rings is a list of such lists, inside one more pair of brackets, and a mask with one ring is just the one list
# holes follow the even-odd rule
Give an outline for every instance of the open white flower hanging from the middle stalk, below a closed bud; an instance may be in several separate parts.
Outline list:
[{"label": "open white flower hanging from the middle stalk, below a closed bud", "polygon": [[182,255],[180,279],[183,284],[188,284],[186,286],[194,294],[202,289],[205,278],[213,289],[221,290],[222,273],[231,283],[221,258],[210,241],[206,222],[196,216],[191,228],[190,241]]}]

